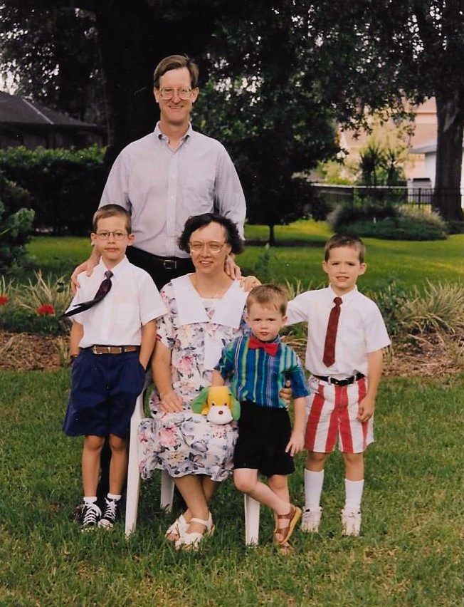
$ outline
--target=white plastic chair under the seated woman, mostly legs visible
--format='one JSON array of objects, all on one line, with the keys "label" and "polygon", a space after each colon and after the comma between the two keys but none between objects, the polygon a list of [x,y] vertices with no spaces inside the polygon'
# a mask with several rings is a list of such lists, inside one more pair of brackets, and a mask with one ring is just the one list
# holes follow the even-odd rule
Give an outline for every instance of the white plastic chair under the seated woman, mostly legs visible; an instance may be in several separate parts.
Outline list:
[{"label": "white plastic chair under the seated woman, mostly legs visible", "polygon": [[[127,469],[127,496],[126,496],[126,520],[125,534],[130,536],[135,530],[137,524],[137,510],[139,506],[140,474],[139,460],[137,457],[137,429],[139,423],[144,417],[144,394],[148,385],[151,384],[151,377],[147,375],[144,389],[137,398],[135,410],[130,420],[130,447],[129,447],[129,465]],[[160,505],[167,512],[172,510],[172,499],[174,497],[174,481],[169,474],[162,470],[161,472],[161,498]],[[247,546],[258,544],[259,539],[259,516],[260,503],[253,497],[244,496],[245,506],[245,543]]]}]

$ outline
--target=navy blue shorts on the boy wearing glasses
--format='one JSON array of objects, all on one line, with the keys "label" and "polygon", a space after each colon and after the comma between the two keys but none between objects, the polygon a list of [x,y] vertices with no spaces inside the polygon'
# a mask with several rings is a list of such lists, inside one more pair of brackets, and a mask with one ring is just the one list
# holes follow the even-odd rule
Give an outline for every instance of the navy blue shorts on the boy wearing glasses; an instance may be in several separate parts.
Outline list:
[{"label": "navy blue shorts on the boy wearing glasses", "polygon": [[127,438],[144,381],[138,352],[94,354],[81,350],[71,371],[63,432],[68,436],[114,434]]}]

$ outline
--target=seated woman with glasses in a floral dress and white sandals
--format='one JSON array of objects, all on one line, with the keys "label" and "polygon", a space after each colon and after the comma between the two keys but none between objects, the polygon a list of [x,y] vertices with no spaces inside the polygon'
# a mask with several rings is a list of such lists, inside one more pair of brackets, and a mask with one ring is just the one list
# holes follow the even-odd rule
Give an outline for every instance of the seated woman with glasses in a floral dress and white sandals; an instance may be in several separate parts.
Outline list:
[{"label": "seated woman with glasses in a floral dress and white sandals", "polygon": [[190,403],[211,384],[223,346],[243,333],[247,295],[224,271],[227,256],[243,250],[229,219],[215,213],[190,217],[179,247],[189,251],[195,271],[161,291],[168,313],[159,321],[152,360],[153,419],[139,428],[142,478],[167,470],[186,502],[186,512],[166,534],[177,549],[196,548],[212,534],[208,504],[233,469],[236,422],[213,424],[192,413]]}]

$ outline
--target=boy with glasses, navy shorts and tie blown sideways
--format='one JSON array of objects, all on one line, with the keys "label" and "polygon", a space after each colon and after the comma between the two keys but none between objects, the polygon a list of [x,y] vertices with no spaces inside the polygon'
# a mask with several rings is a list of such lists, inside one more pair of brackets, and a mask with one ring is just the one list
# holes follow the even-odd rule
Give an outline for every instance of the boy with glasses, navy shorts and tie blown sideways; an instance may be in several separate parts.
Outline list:
[{"label": "boy with glasses, navy shorts and tie blown sideways", "polygon": [[[92,242],[101,255],[65,316],[73,316],[71,391],[63,422],[68,436],[84,435],[83,529],[111,528],[119,515],[127,474],[130,417],[142,391],[156,339],[156,318],[166,313],[149,274],[125,256],[134,242],[130,214],[107,204],[93,217]],[[100,451],[109,436],[110,492],[105,512],[97,506]]]}]

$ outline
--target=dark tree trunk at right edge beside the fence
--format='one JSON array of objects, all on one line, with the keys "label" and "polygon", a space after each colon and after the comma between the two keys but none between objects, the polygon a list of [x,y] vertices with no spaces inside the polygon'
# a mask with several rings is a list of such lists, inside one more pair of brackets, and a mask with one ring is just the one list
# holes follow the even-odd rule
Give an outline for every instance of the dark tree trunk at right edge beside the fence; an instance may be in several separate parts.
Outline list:
[{"label": "dark tree trunk at right edge beside the fence", "polygon": [[433,207],[443,219],[464,219],[460,197],[463,160],[464,98],[436,96],[437,157]]}]

